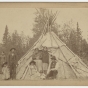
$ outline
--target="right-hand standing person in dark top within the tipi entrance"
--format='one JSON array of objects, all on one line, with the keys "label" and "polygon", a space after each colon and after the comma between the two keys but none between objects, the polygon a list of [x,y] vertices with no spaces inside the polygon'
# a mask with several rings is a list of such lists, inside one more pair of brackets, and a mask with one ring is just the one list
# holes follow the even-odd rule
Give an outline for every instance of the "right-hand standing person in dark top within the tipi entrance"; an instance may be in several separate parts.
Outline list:
[{"label": "right-hand standing person in dark top within the tipi entrance", "polygon": [[42,63],[43,63],[43,73],[46,74],[49,65],[49,53],[47,47],[43,48]]}]

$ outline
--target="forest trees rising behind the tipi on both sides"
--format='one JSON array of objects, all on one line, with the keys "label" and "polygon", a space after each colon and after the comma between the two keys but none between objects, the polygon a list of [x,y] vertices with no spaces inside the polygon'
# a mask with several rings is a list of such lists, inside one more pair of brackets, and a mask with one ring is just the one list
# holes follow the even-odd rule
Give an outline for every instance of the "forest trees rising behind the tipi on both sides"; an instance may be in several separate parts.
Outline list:
[{"label": "forest trees rising behind the tipi on both sides", "polygon": [[[19,34],[17,30],[15,30],[12,34],[9,33],[9,28],[6,25],[5,32],[3,35],[3,44],[0,45],[0,49],[4,50],[8,55],[8,52],[11,48],[16,48],[19,59],[32,47],[35,41],[38,40],[43,30],[46,28],[46,32],[48,28],[46,27],[46,23],[49,22],[48,25],[51,25],[51,31],[54,31],[57,36],[78,56],[83,58],[83,60],[88,60],[88,43],[82,37],[82,31],[77,22],[76,28],[73,26],[73,21],[69,21],[68,23],[64,23],[60,25],[55,22],[56,13],[49,11],[47,9],[39,9],[35,12],[35,20],[33,24],[33,38],[29,36],[25,36],[23,32]],[[50,19],[49,19],[49,18]],[[54,18],[55,17],[55,18]],[[49,21],[48,21],[49,19]],[[51,22],[54,20],[54,22]]]}]

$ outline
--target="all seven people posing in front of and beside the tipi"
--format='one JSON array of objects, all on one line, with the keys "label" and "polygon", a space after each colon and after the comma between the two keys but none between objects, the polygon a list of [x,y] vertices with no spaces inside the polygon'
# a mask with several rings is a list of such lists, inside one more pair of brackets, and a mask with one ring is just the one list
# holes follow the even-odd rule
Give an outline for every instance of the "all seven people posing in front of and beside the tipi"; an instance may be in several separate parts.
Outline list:
[{"label": "all seven people posing in front of and beside the tipi", "polygon": [[[17,54],[16,49],[12,48],[8,57],[2,52],[0,55],[0,74],[2,79],[16,79]],[[34,49],[32,60],[28,65],[29,78],[31,79],[56,79],[58,74],[58,61],[56,57],[49,54],[48,48],[41,50]]]}]

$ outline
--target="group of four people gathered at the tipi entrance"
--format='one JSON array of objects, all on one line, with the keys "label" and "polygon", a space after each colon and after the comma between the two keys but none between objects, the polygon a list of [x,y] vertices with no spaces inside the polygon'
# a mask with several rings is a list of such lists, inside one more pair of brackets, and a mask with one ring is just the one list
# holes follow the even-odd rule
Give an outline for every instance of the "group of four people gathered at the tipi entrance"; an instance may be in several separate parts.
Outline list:
[{"label": "group of four people gathered at the tipi entrance", "polygon": [[30,78],[56,79],[58,67],[56,57],[49,54],[47,47],[43,47],[41,50],[36,48],[29,64]]}]

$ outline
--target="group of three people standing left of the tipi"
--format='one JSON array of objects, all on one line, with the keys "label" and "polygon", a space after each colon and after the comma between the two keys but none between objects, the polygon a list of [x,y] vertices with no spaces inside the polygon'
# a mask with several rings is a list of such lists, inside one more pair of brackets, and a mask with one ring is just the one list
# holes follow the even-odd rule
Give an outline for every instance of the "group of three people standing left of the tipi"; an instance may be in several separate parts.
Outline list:
[{"label": "group of three people standing left of the tipi", "polygon": [[4,80],[16,79],[17,55],[15,51],[15,48],[10,49],[8,57],[4,52],[0,55],[0,74]]}]

